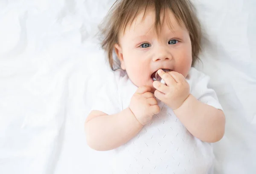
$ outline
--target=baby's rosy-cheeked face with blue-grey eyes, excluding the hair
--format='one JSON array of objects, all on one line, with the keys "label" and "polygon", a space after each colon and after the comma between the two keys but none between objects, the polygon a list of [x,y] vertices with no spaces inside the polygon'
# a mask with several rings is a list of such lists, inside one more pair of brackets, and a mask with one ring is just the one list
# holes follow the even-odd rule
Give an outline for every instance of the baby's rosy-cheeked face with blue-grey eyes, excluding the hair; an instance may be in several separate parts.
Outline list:
[{"label": "baby's rosy-cheeked face with blue-grey eyes, excluding the hair", "polygon": [[[150,86],[154,92],[152,74],[159,69],[181,73],[186,77],[192,64],[192,47],[188,31],[180,26],[172,12],[166,11],[163,27],[157,35],[154,11],[137,16],[131,27],[119,36],[115,50],[131,81],[137,86]],[[162,17],[163,19],[163,17]],[[169,27],[172,24],[172,29]]]}]

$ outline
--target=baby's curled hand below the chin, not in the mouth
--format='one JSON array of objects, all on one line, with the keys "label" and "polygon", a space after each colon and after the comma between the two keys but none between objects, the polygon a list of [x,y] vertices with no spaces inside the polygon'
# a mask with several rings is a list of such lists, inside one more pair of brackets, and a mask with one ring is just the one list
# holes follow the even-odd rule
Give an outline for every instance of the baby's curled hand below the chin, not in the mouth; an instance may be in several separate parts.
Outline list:
[{"label": "baby's curled hand below the chin, not in the mouth", "polygon": [[152,116],[160,112],[157,100],[148,86],[139,87],[131,98],[130,110],[137,120],[144,126],[150,122]]}]

